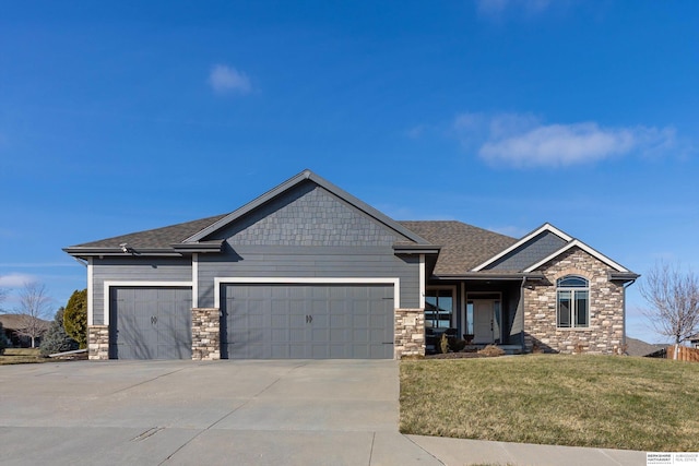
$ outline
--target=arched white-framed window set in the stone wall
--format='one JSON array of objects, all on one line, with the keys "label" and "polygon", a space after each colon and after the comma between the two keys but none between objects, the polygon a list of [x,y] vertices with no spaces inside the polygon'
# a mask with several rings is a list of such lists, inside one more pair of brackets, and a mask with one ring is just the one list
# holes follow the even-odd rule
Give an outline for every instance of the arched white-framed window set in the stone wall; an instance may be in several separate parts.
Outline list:
[{"label": "arched white-framed window set in the stone wall", "polygon": [[590,326],[590,285],[579,276],[568,275],[556,280],[557,326],[574,328]]}]

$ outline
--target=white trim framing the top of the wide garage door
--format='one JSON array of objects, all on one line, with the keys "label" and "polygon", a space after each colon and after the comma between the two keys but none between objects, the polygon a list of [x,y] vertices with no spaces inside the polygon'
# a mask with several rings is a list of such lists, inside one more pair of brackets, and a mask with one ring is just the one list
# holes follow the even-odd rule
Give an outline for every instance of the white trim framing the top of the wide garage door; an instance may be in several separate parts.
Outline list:
[{"label": "white trim framing the top of the wide garage door", "polygon": [[401,307],[401,279],[400,278],[377,278],[377,277],[347,277],[347,278],[322,278],[322,277],[215,277],[214,278],[214,308],[221,309],[221,285],[247,285],[247,284],[269,284],[269,285],[393,285],[393,307]]}]

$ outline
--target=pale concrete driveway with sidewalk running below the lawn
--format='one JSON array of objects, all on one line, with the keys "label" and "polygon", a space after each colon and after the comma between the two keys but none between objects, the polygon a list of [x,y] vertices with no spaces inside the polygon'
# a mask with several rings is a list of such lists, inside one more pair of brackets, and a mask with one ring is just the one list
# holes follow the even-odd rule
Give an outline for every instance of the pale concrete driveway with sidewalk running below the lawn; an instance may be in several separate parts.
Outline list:
[{"label": "pale concrete driveway with sidewalk running below the lawn", "polygon": [[398,432],[395,361],[0,367],[0,463],[644,465],[640,452]]}]

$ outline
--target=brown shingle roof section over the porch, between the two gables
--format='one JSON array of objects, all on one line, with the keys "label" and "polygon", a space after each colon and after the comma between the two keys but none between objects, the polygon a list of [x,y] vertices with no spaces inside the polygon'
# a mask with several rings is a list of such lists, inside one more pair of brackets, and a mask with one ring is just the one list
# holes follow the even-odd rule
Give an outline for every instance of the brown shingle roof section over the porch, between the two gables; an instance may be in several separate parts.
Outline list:
[{"label": "brown shingle roof section over the porch, between the two gables", "polygon": [[518,241],[516,238],[455,220],[399,223],[433,244],[442,247],[435,275],[465,274]]}]

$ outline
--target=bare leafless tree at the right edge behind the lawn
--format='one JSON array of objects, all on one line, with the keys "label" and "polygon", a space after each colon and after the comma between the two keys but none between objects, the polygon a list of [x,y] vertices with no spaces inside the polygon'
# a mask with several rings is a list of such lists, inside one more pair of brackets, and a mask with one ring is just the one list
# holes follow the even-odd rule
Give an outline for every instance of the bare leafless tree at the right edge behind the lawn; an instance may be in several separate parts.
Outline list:
[{"label": "bare leafless tree at the right edge behind the lawn", "polygon": [[675,342],[675,359],[678,346],[699,332],[699,277],[678,265],[656,263],[639,285],[639,292],[648,302],[643,311],[661,335]]}]

